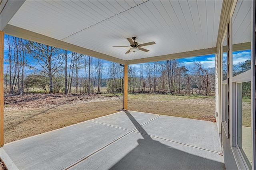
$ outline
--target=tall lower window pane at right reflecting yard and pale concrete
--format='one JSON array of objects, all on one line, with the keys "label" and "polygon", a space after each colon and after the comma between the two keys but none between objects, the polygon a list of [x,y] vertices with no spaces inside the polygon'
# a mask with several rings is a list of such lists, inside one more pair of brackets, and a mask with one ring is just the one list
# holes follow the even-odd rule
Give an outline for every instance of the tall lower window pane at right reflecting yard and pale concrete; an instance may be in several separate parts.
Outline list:
[{"label": "tall lower window pane at right reflecting yard and pale concrete", "polygon": [[248,166],[252,165],[251,83],[237,84],[238,147]]}]

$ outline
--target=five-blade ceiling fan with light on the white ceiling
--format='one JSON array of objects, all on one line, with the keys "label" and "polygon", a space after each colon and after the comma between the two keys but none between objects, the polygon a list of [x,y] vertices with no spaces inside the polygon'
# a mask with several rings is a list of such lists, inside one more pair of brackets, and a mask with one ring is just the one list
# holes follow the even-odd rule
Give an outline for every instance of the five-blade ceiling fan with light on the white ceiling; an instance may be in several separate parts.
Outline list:
[{"label": "five-blade ceiling fan with light on the white ceiling", "polygon": [[139,44],[139,43],[135,42],[136,37],[132,37],[132,39],[127,38],[127,40],[128,40],[128,42],[130,42],[130,46],[113,46],[113,47],[130,47],[130,49],[126,52],[126,54],[127,54],[127,53],[130,53],[131,51],[136,52],[138,50],[148,52],[149,51],[148,49],[141,48],[141,47],[146,46],[146,45],[156,44],[155,42],[148,42],[148,43]]}]

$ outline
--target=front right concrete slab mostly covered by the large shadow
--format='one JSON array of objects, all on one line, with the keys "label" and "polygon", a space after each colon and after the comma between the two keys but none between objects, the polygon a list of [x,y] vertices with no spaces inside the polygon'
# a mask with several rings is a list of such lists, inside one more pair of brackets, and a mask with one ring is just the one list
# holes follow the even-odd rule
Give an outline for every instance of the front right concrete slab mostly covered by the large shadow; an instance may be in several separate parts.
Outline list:
[{"label": "front right concrete slab mostly covered by the large shadow", "polygon": [[225,165],[217,153],[132,132],[71,169],[221,170]]}]

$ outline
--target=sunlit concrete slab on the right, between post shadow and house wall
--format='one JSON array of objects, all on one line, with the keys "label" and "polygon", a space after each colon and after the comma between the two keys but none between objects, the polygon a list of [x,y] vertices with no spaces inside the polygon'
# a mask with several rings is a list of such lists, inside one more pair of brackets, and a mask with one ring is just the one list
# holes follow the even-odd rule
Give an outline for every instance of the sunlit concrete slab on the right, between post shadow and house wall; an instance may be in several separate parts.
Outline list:
[{"label": "sunlit concrete slab on the right, between post shadow and house wall", "polygon": [[216,140],[217,125],[213,122],[161,115],[143,128],[152,136],[221,152],[220,140]]}]

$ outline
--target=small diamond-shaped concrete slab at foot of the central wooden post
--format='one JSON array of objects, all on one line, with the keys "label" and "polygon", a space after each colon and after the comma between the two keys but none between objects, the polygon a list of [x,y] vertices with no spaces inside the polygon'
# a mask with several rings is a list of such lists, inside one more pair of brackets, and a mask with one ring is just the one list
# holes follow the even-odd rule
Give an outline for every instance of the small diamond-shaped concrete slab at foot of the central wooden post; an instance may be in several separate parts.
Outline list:
[{"label": "small diamond-shaped concrete slab at foot of the central wooden post", "polygon": [[[112,125],[114,127],[124,128],[127,130],[134,130],[135,128],[138,128],[144,123],[159,116],[156,114],[141,113],[141,112],[135,112],[135,111],[129,111],[129,113],[130,115],[126,115],[124,114],[124,112],[119,112],[112,115],[108,115],[106,117],[99,117],[96,119],[92,119],[92,121],[104,123],[107,125]],[[134,119],[136,119],[136,121],[138,122],[138,125],[134,125],[130,121],[129,116],[134,117]]]}]

